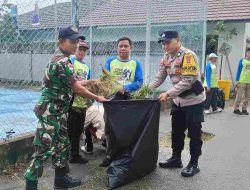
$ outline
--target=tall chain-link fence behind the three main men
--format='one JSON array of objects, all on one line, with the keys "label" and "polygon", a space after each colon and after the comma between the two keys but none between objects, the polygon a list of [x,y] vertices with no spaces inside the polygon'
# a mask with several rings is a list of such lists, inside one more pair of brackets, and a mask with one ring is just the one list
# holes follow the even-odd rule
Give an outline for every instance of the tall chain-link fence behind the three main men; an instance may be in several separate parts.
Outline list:
[{"label": "tall chain-link fence behind the three main men", "polygon": [[[117,54],[116,41],[133,41],[145,82],[153,80],[163,50],[158,33],[177,30],[183,45],[204,62],[206,0],[3,0],[0,3],[0,139],[35,130],[33,107],[58,29],[75,25],[90,45],[93,78]],[[169,88],[169,81],[162,86]]]}]

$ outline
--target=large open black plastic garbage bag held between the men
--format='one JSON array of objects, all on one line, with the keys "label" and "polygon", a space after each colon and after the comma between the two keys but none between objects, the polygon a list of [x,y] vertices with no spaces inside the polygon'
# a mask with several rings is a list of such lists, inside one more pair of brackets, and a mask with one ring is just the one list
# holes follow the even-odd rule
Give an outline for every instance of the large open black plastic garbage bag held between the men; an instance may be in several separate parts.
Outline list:
[{"label": "large open black plastic garbage bag held between the men", "polygon": [[[106,135],[114,146],[107,174],[110,189],[154,171],[158,160],[160,102],[126,100],[104,103]],[[107,134],[108,133],[108,134]]]}]

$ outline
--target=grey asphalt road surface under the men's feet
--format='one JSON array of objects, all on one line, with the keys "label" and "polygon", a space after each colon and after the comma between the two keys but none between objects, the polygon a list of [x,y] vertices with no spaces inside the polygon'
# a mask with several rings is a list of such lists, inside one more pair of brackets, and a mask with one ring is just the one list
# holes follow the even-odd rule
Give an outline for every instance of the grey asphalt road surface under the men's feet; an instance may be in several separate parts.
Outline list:
[{"label": "grey asphalt road surface under the men's feet", "polygon": [[[192,178],[183,178],[181,169],[157,169],[141,180],[118,188],[120,190],[249,190],[250,189],[250,116],[232,113],[230,105],[222,113],[205,117],[203,130],[215,137],[203,144],[203,155],[199,160],[201,172]],[[160,137],[170,132],[169,113],[161,113]],[[107,178],[105,169],[98,164],[105,150],[95,145],[93,155],[86,165],[70,165],[70,175],[85,183],[78,189],[105,190]],[[159,160],[171,155],[171,149],[161,146]],[[189,161],[188,146],[182,153],[183,164]],[[39,180],[39,189],[53,189],[54,172],[46,163],[44,176]],[[1,190],[24,189],[23,179],[0,177]]]}]

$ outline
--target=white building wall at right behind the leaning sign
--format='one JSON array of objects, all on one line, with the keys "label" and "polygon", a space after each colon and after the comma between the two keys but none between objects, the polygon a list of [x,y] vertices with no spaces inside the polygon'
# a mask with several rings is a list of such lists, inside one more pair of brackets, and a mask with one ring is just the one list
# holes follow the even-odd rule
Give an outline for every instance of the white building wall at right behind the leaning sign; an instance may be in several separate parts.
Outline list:
[{"label": "white building wall at right behind the leaning sign", "polygon": [[[244,50],[245,50],[245,23],[226,23],[228,26],[228,29],[236,28],[238,35],[234,36],[231,40],[229,40],[227,43],[232,46],[232,51],[229,54],[229,62],[232,68],[232,73],[233,73],[233,79],[235,79],[237,67],[239,60],[244,56]],[[210,33],[214,28],[213,24],[208,24],[208,33]],[[221,44],[224,42],[224,36],[225,33],[221,33],[219,35],[219,41],[218,41],[218,50],[221,46]],[[219,52],[217,52],[219,54]],[[219,57],[220,54],[219,54]],[[218,71],[220,69],[220,62],[221,58],[218,60]],[[225,56],[223,58],[222,62],[222,79],[230,79],[230,72],[229,68],[226,63]]]}]

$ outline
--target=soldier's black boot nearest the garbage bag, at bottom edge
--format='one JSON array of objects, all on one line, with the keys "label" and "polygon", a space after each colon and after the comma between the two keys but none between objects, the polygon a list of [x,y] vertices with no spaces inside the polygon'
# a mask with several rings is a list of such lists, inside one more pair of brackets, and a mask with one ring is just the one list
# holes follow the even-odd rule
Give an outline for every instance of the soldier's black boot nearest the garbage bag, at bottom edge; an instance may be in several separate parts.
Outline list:
[{"label": "soldier's black boot nearest the garbage bag, at bottom edge", "polygon": [[82,184],[81,180],[72,179],[68,175],[55,176],[55,180],[54,180],[55,189],[73,188],[73,187],[80,186],[81,184]]}]

